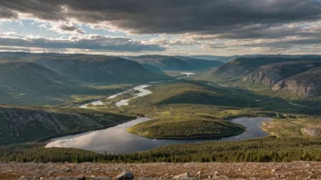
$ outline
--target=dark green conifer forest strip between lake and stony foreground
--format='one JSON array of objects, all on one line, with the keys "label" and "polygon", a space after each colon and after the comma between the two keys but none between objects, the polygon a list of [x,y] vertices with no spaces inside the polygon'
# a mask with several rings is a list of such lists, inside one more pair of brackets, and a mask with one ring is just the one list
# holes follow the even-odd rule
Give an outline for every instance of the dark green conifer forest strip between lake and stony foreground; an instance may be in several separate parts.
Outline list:
[{"label": "dark green conifer forest strip between lake and stony foreground", "polygon": [[[2,149],[4,150],[4,149]],[[2,152],[2,162],[289,162],[321,161],[320,138],[262,138],[245,141],[166,145],[134,154],[96,154],[75,148],[33,147]]]}]

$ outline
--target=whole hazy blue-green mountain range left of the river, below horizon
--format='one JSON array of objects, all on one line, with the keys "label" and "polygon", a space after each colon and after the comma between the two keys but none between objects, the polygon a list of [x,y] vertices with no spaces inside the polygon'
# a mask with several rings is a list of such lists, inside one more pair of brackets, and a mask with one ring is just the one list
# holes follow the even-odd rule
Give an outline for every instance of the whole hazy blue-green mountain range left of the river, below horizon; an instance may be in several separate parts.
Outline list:
[{"label": "whole hazy blue-green mountain range left of the river, below horizon", "polygon": [[0,53],[1,104],[57,105],[70,95],[97,95],[85,84],[140,84],[168,78],[137,62],[106,55]]}]

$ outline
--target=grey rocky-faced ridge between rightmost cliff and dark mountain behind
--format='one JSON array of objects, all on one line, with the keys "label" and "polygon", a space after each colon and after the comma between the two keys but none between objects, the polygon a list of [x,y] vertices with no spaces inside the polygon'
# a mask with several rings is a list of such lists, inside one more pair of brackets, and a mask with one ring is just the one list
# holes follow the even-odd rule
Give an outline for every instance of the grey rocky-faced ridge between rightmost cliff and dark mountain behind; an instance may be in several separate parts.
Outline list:
[{"label": "grey rocky-faced ridge between rightmost cliff and dark mountain behind", "polygon": [[321,66],[320,62],[286,62],[262,65],[243,77],[243,81],[253,81],[264,85],[275,85],[286,77],[297,75]]}]

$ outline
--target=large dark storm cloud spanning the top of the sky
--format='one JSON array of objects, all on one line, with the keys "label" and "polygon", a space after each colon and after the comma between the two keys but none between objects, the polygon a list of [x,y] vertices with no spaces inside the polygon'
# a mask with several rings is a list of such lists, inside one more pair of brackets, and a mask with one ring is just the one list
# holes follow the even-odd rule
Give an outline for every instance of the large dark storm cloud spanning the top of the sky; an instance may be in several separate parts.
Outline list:
[{"label": "large dark storm cloud spanning the top of the sky", "polygon": [[264,30],[321,19],[318,0],[2,0],[0,6],[10,9],[12,17],[19,12],[45,20],[111,24],[138,34],[196,33],[221,38],[295,35],[291,29],[281,35]]}]

